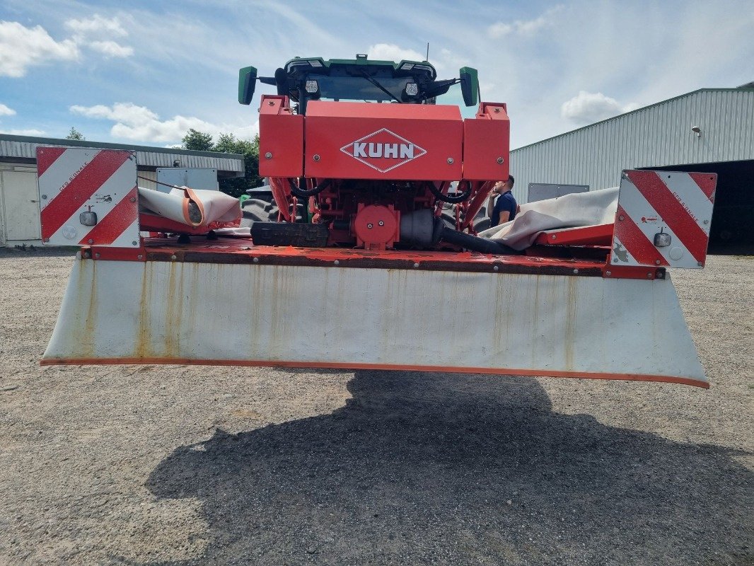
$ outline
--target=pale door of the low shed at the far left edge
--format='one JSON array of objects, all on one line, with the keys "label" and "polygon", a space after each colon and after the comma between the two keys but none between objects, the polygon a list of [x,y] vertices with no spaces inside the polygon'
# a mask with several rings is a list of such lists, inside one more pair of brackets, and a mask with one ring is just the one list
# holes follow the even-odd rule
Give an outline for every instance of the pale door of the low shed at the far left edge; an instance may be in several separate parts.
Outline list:
[{"label": "pale door of the low shed at the far left edge", "polygon": [[38,240],[39,192],[35,171],[0,171],[5,210],[5,238]]}]

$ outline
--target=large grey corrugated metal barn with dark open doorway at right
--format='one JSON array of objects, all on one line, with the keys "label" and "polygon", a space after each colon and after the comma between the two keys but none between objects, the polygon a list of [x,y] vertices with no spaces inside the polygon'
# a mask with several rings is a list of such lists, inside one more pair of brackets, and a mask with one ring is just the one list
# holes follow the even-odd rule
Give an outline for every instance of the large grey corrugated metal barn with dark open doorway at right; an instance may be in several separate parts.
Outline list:
[{"label": "large grey corrugated metal barn with dark open doorway at right", "polygon": [[[752,85],[690,92],[510,152],[519,202],[527,201],[529,183],[605,189],[617,186],[621,171],[632,168],[716,172],[716,215],[731,209],[735,222],[751,223]],[[713,217],[713,238],[735,237],[721,233],[723,224]]]}]

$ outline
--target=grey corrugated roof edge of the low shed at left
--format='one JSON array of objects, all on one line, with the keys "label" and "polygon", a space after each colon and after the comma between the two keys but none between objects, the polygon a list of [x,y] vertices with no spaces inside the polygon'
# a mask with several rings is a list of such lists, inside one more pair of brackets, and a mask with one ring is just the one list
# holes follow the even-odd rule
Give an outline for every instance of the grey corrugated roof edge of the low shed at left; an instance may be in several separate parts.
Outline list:
[{"label": "grey corrugated roof edge of the low shed at left", "polygon": [[198,152],[190,149],[131,146],[121,143],[92,142],[88,140],[58,140],[51,137],[27,137],[0,134],[0,160],[13,158],[36,159],[37,146],[96,147],[102,149],[130,149],[136,152],[139,167],[173,167],[180,161],[184,168],[215,168],[223,176],[243,177],[244,156],[234,153]]}]

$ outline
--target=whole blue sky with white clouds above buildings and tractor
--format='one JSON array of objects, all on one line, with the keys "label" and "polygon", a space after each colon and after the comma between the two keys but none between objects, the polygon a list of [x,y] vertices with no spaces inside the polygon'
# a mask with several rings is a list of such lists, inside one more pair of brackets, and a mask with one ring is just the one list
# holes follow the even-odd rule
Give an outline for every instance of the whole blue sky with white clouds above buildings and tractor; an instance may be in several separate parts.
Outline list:
[{"label": "whole blue sky with white clouds above buildings and tractor", "polygon": [[752,29],[749,0],[3,0],[0,132],[63,137],[75,126],[88,140],[155,146],[188,128],[251,137],[259,98],[238,104],[240,67],[271,75],[296,55],[423,59],[430,42],[441,78],[475,66],[482,99],[508,103],[516,147],[754,81]]}]

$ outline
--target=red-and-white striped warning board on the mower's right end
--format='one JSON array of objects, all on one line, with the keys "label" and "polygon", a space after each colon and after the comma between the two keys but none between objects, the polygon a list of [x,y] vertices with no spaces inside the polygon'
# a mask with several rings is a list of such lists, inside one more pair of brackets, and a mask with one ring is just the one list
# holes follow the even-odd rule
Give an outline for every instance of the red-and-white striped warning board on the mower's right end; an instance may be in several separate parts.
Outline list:
[{"label": "red-and-white striped warning board on the mower's right end", "polygon": [[716,185],[714,173],[624,171],[612,263],[703,267]]}]

